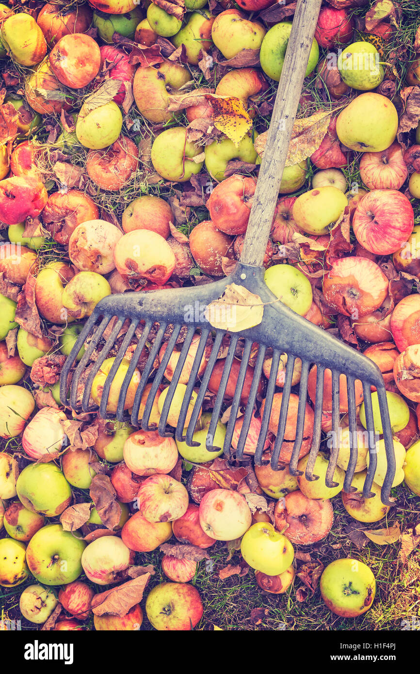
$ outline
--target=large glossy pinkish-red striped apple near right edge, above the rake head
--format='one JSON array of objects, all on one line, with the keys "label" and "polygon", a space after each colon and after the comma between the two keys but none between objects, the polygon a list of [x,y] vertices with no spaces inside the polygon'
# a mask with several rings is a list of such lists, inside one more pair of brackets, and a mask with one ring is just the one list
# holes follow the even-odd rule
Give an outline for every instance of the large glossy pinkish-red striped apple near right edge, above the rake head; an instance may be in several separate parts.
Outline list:
[{"label": "large glossy pinkish-red striped apple near right edge, above the rake head", "polygon": [[357,241],[371,253],[396,253],[413,231],[413,206],[396,189],[374,189],[357,204],[353,231]]}]

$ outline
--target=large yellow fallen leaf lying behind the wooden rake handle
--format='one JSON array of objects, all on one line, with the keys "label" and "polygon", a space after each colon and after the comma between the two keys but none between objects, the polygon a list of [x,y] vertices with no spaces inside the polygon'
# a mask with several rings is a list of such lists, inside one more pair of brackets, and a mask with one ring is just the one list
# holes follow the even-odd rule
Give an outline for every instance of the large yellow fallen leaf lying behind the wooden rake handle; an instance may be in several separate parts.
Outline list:
[{"label": "large yellow fallen leaf lying behind the wooden rake handle", "polygon": [[[313,113],[311,117],[305,119],[296,119],[289,143],[289,151],[287,152],[286,166],[299,164],[318,150],[324,135],[328,131],[330,121],[331,113],[325,111],[318,111],[318,113]],[[253,144],[260,157],[264,154],[267,133],[267,131],[260,133]]]}]

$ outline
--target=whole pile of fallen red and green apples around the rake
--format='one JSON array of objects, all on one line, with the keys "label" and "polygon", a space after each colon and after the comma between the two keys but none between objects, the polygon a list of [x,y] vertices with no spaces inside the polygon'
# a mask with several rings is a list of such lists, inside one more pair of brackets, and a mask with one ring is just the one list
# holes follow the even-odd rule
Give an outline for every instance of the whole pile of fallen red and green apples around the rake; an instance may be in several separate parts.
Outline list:
[{"label": "whole pile of fallen red and green apples around the rake", "polygon": [[[322,5],[264,266],[279,299],[380,367],[394,431],[394,487],[404,481],[419,496],[420,29],[407,42],[401,3],[388,2],[385,11],[383,4]],[[295,560],[296,546],[308,550],[330,532],[338,493],[361,526],[380,520],[387,526],[375,392],[378,468],[373,497],[362,493],[369,452],[360,382],[353,493],[342,492],[350,452],[344,377],[338,487],[325,484],[329,372],[324,449],[314,470],[320,479],[305,479],[316,366],[299,455],[303,473],[296,478],[288,469],[295,392],[280,470],[270,468],[285,355],[262,466],[253,465],[252,455],[269,353],[247,460],[235,460],[242,416],[229,460],[206,450],[229,337],[210,377],[196,447],[113,421],[136,340],[111,386],[109,419],[76,414],[58,395],[65,357],[100,299],[155,288],[170,294],[229,274],[235,265],[294,10],[295,3],[270,0],[0,5],[0,585],[6,597],[7,588],[19,592],[24,584],[22,616],[43,629],[84,630],[92,613],[96,630],[140,629],[144,593],[156,629],[192,629],[206,611],[196,574],[217,541],[226,541],[231,553],[240,549],[241,569],[255,570],[266,592],[295,592],[297,571],[312,590],[320,582],[327,607],[340,616],[355,617],[373,603],[376,580],[356,559],[336,559],[323,569],[321,557],[304,572]],[[127,410],[154,336],[134,371]],[[199,338],[171,403],[169,429],[177,425]],[[156,394],[152,424],[181,345],[182,338]],[[258,346],[249,358],[243,405],[257,352]],[[115,353],[94,379],[92,403],[100,402]],[[241,355],[239,348],[214,446],[223,445]],[[293,386],[300,366],[298,359]],[[83,381],[80,388],[82,395]],[[187,421],[190,415],[191,409]],[[156,569],[144,565],[143,553],[156,549],[167,582],[152,580],[149,590]]]}]

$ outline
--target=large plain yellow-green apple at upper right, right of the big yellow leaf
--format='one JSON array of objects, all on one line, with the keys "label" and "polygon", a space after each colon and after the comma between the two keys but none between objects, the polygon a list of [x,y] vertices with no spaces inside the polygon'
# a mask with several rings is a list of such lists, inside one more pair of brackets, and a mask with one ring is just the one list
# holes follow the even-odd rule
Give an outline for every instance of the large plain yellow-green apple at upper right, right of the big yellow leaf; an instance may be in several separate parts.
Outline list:
[{"label": "large plain yellow-green apple at upper right, right of the big yellow leaf", "polygon": [[396,107],[386,96],[368,92],[356,96],[337,118],[340,142],[356,152],[382,152],[395,140]]}]

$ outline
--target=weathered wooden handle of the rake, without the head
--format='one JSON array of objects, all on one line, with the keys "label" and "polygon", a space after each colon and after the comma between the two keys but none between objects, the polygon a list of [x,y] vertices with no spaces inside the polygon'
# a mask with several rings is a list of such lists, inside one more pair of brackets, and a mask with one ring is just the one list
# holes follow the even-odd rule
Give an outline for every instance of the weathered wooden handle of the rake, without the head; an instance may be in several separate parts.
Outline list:
[{"label": "weathered wooden handle of the rake, without the head", "polygon": [[298,0],[241,262],[262,266],[322,0]]}]

